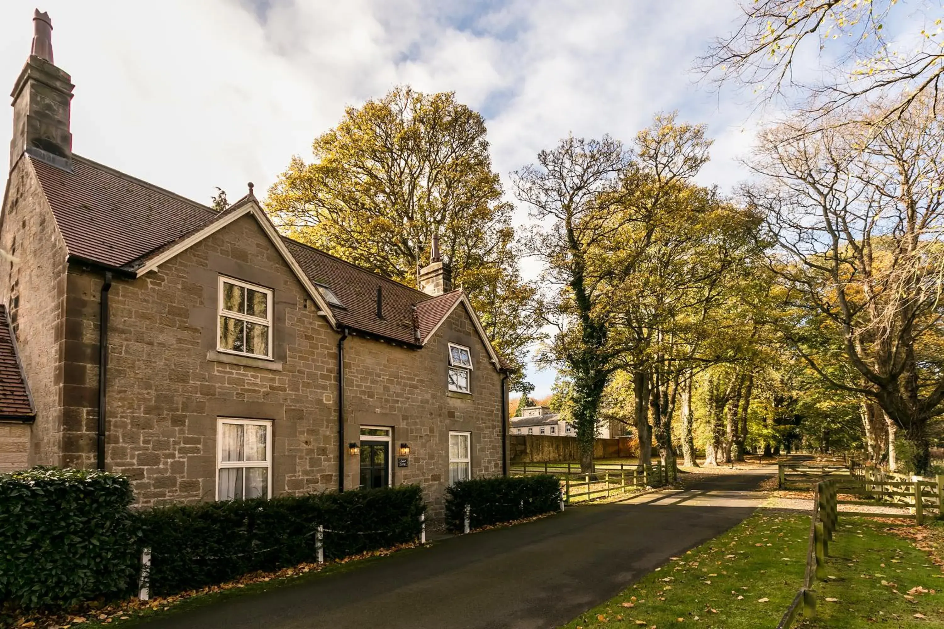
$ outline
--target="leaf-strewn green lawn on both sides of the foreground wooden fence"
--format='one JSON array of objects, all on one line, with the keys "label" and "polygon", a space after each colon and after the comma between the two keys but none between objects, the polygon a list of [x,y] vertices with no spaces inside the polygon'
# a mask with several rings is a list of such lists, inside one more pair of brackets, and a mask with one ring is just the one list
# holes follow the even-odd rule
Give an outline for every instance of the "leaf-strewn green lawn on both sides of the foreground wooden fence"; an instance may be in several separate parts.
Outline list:
[{"label": "leaf-strewn green lawn on both sides of the foreground wooden fence", "polygon": [[[912,588],[944,588],[944,574],[888,526],[840,516],[827,562],[831,580],[817,585],[818,618],[795,626],[944,627],[941,593],[904,598]],[[759,509],[565,626],[776,627],[801,586],[809,529],[808,514]]]}]

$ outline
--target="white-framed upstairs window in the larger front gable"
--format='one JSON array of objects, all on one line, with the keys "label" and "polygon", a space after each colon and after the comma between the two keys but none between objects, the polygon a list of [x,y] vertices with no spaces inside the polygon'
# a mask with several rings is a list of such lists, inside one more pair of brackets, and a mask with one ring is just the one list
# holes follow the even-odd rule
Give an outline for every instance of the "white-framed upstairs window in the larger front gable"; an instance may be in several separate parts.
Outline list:
[{"label": "white-framed upstairs window in the larger front gable", "polygon": [[220,275],[220,352],[272,357],[272,290]]}]

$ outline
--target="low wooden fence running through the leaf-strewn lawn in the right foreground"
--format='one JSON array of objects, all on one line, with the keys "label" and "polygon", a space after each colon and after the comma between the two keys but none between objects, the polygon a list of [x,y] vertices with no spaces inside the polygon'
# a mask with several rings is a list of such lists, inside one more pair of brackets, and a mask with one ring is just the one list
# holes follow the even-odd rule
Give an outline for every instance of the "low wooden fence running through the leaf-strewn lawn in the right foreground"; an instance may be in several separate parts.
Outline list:
[{"label": "low wooden fence running through the leaf-strewn lawn in the right foreground", "polygon": [[829,542],[838,525],[839,507],[835,480],[820,481],[813,494],[813,516],[810,518],[810,538],[806,547],[806,571],[803,584],[793,602],[786,608],[777,629],[788,629],[802,614],[804,618],[816,616],[816,588],[818,581],[826,581],[826,557]]}]

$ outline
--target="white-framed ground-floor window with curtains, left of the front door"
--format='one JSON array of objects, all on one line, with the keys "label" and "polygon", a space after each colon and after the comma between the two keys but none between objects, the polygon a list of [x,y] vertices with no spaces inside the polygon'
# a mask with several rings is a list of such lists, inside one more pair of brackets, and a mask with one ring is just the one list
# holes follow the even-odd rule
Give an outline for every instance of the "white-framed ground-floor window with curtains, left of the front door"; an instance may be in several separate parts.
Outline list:
[{"label": "white-framed ground-floor window with curtains, left of the front door", "polygon": [[272,422],[221,417],[216,426],[216,500],[272,496]]}]

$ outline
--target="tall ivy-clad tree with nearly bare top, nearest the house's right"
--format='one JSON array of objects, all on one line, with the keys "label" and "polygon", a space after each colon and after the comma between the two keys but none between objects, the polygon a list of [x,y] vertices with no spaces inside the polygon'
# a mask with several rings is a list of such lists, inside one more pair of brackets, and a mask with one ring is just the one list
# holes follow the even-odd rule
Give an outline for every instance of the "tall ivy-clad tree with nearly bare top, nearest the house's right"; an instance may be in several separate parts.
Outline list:
[{"label": "tall ivy-clad tree with nearly bare top, nearest the house's right", "polygon": [[618,354],[610,339],[612,292],[603,276],[608,269],[598,252],[610,250],[624,223],[618,175],[628,158],[622,144],[608,136],[568,137],[514,173],[518,199],[542,225],[533,236],[534,252],[546,266],[548,322],[557,328],[548,359],[565,368],[570,382],[584,472],[593,468],[600,400]]}]

